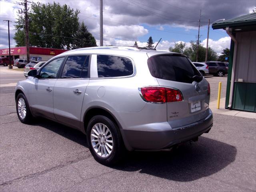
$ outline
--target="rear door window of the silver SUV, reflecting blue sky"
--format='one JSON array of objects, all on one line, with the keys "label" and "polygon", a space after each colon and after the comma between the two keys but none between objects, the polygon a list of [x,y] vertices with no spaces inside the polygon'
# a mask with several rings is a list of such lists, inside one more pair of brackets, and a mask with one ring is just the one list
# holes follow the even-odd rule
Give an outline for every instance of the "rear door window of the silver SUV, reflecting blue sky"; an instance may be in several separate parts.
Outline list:
[{"label": "rear door window of the silver SUV, reflecting blue sky", "polygon": [[61,78],[87,78],[88,77],[89,56],[69,56]]}]

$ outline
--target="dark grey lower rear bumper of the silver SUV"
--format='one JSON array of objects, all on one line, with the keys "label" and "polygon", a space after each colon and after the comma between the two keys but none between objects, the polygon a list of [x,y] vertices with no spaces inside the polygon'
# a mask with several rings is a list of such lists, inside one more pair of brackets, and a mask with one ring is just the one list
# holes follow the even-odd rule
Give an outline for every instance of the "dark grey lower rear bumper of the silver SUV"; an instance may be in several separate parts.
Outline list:
[{"label": "dark grey lower rear bumper of the silver SUV", "polygon": [[212,113],[206,118],[166,131],[140,131],[121,129],[128,150],[159,150],[186,142],[209,132],[213,123]]}]

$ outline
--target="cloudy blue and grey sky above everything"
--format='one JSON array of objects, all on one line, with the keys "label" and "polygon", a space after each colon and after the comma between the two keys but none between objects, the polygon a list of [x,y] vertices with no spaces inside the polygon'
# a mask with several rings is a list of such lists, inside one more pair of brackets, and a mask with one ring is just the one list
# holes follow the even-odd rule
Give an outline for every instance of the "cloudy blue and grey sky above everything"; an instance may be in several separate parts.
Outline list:
[{"label": "cloudy blue and grey sky above everything", "polygon": [[[17,10],[21,0],[0,0],[0,48],[8,48],[8,24],[11,20],[11,47],[15,47],[13,36]],[[32,0],[30,0],[32,1]],[[34,0],[33,2],[37,2]],[[42,3],[53,2],[40,0]],[[55,0],[80,10],[80,22],[84,21],[99,45],[100,0]],[[230,19],[249,14],[256,0],[103,0],[104,45],[125,46],[138,42],[146,46],[149,36],[158,44],[158,50],[168,50],[176,42],[196,40],[198,20],[202,10],[200,42],[206,46],[207,24],[219,19]],[[229,48],[230,38],[224,30],[212,30],[210,26],[209,46],[217,53]]]}]

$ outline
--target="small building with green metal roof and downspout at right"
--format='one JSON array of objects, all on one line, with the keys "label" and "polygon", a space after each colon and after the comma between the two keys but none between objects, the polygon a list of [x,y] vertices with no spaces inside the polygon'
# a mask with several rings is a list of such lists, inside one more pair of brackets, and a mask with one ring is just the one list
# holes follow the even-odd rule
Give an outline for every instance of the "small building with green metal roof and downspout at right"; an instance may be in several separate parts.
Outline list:
[{"label": "small building with green metal roof and downspout at right", "polygon": [[256,112],[256,13],[217,20],[231,37],[225,108]]}]

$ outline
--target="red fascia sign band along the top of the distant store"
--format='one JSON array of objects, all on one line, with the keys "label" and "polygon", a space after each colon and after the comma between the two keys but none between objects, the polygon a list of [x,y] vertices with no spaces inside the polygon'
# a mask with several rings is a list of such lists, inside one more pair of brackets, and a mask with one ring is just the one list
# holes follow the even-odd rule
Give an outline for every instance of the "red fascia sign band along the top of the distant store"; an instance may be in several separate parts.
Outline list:
[{"label": "red fascia sign band along the top of the distant store", "polygon": [[[30,47],[30,54],[35,55],[58,55],[65,51],[64,49],[51,49],[51,48],[41,48],[41,47]],[[16,47],[11,48],[11,55],[25,55],[27,53],[26,47]],[[9,49],[0,49],[0,55],[9,55]]]}]

